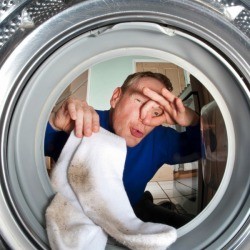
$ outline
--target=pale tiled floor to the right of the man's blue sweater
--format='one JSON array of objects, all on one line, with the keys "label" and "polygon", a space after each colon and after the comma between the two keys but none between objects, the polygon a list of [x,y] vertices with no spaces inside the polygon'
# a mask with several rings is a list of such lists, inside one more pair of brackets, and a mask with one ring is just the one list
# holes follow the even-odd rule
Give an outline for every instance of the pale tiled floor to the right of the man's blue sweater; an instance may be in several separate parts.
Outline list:
[{"label": "pale tiled floor to the right of the man's blue sweater", "polygon": [[146,190],[152,193],[155,204],[171,201],[180,213],[197,214],[197,177],[149,182]]}]

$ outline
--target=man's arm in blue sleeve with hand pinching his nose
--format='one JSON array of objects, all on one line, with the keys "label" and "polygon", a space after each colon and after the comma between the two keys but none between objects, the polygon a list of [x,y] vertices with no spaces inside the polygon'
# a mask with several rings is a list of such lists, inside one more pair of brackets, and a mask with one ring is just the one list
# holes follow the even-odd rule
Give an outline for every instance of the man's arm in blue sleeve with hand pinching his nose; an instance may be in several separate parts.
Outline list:
[{"label": "man's arm in blue sleeve with hand pinching his nose", "polygon": [[[164,134],[159,136],[158,151],[165,155],[169,164],[185,163],[198,160],[201,156],[201,135],[200,135],[200,117],[188,107],[185,107],[182,100],[162,89],[158,94],[151,89],[143,89],[143,93],[150,98],[141,110],[141,119],[144,124],[149,126],[159,126],[163,123],[170,125],[180,125],[186,127],[185,132],[177,132],[170,128],[161,128],[160,131],[166,131],[167,137],[164,140]],[[157,103],[162,112],[157,116],[151,116],[150,109]],[[167,149],[167,150],[166,150]]]}]

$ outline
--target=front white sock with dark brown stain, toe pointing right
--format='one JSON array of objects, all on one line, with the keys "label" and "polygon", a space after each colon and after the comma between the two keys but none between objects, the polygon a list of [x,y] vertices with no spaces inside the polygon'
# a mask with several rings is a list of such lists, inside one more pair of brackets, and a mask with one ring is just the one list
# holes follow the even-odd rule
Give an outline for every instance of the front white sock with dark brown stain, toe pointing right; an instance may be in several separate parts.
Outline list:
[{"label": "front white sock with dark brown stain, toe pointing right", "polygon": [[176,230],[135,216],[122,181],[125,157],[125,140],[101,129],[82,139],[68,169],[69,183],[84,213],[116,240],[135,250],[166,249]]}]

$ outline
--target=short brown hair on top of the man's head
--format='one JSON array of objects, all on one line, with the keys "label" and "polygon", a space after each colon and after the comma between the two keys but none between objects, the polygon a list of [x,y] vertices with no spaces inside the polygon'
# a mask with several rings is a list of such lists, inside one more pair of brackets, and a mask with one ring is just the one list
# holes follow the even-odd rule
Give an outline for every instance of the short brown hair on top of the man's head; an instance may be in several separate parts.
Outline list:
[{"label": "short brown hair on top of the man's head", "polygon": [[137,72],[129,75],[121,86],[123,93],[133,84],[137,83],[141,78],[151,77],[160,81],[169,91],[173,90],[170,80],[161,73],[153,73],[151,71]]}]

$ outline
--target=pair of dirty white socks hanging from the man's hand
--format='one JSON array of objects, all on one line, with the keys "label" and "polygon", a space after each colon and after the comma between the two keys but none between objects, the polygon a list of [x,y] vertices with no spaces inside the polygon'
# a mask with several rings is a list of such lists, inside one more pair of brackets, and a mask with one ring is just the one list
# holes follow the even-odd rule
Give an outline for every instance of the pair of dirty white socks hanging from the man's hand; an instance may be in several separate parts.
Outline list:
[{"label": "pair of dirty white socks hanging from the man's hand", "polygon": [[125,140],[101,128],[91,137],[71,133],[52,172],[57,192],[46,211],[52,249],[104,249],[107,234],[130,249],[166,249],[173,227],[139,220],[122,176]]}]

